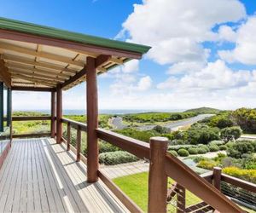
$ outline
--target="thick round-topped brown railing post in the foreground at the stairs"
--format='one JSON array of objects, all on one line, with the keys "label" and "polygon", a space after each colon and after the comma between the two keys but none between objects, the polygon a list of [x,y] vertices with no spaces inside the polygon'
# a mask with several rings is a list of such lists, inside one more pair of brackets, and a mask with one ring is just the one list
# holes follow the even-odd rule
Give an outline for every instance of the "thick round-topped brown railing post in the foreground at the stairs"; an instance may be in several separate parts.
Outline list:
[{"label": "thick round-topped brown railing post in the foreground at the stairs", "polygon": [[168,139],[150,138],[148,212],[165,212],[167,204],[166,150]]}]

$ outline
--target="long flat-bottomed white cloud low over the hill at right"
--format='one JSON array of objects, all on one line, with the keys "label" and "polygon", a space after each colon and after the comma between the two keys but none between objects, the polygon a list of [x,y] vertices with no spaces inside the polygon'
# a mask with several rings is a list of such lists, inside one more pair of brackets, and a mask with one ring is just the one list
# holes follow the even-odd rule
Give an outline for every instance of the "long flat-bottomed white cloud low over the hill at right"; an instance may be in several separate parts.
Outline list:
[{"label": "long flat-bottomed white cloud low over the hill at right", "polygon": [[255,81],[252,72],[233,72],[223,60],[207,63],[200,71],[191,72],[183,78],[168,78],[165,82],[157,85],[158,89],[230,89],[247,85]]}]

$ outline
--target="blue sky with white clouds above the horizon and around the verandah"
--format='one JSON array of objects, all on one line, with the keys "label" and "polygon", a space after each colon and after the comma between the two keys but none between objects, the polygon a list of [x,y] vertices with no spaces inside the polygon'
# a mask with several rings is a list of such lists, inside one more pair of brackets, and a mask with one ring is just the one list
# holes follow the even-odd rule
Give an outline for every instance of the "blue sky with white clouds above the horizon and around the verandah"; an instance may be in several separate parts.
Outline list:
[{"label": "blue sky with white clouds above the horizon and around the verandah", "polygon": [[[234,109],[256,106],[255,11],[249,0],[24,0],[2,1],[0,16],[152,46],[98,78],[102,109]],[[84,109],[85,84],[63,101]],[[15,93],[14,108],[49,108],[49,95]]]}]

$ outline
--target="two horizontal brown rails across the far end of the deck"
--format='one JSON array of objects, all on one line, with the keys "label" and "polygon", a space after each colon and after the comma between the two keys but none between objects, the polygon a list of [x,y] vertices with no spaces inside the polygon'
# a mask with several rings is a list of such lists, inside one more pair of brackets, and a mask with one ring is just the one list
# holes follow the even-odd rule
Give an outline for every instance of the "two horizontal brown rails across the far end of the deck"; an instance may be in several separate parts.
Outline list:
[{"label": "two horizontal brown rails across the far end of the deck", "polygon": [[[51,120],[50,116],[15,116],[12,117],[12,121],[44,121],[44,120]],[[40,132],[40,133],[28,133],[28,134],[15,134],[12,135],[12,138],[26,138],[26,137],[46,137],[50,136],[51,133],[49,132]]]}]

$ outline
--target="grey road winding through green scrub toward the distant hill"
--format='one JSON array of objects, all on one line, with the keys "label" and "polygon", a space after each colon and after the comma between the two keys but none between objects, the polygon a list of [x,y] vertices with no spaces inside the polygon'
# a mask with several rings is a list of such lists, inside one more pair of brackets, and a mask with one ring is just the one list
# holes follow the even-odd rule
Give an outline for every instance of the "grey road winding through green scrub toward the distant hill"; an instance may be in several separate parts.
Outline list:
[{"label": "grey road winding through green scrub toward the distant hill", "polygon": [[[195,124],[196,122],[198,122],[204,118],[212,117],[213,115],[214,114],[201,114],[201,115],[197,115],[192,118],[186,118],[183,120],[178,120],[178,121],[174,121],[172,123],[164,124],[163,126],[169,128],[170,130],[177,130],[180,127]],[[143,125],[143,126],[137,127],[137,130],[152,130],[155,126],[156,126],[155,124]]]}]

